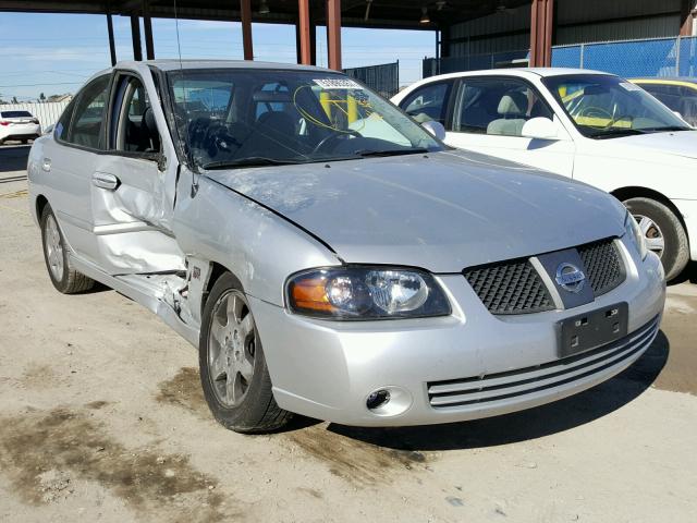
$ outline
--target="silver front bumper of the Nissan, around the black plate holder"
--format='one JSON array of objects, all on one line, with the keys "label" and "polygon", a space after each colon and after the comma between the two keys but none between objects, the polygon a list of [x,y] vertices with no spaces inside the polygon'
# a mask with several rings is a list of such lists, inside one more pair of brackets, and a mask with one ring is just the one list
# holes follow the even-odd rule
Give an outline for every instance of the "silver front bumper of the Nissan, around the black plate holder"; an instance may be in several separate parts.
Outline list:
[{"label": "silver front bumper of the Nissan, around the black plate holder", "polygon": [[[461,275],[439,277],[453,304],[452,316],[443,318],[327,321],[252,297],[276,400],[283,409],[330,422],[402,426],[505,414],[592,387],[644,353],[663,311],[658,257],[649,254],[641,262],[631,254],[634,248],[622,246],[626,280],[567,311],[493,316]],[[629,306],[624,345],[558,358],[559,320],[620,302]],[[366,408],[378,389],[391,392],[400,412]]]}]

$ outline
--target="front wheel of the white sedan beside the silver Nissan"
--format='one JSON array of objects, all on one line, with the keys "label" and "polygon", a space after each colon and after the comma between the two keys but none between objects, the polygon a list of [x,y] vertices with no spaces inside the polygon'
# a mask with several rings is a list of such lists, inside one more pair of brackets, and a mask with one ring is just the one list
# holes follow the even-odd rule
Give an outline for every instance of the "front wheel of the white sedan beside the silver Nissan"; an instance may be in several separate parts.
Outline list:
[{"label": "front wheel of the white sedan beside the silver Nissan", "polygon": [[661,258],[665,280],[677,277],[689,262],[687,234],[677,216],[667,205],[651,198],[629,198],[623,203],[637,218],[647,236],[649,251],[653,251]]}]

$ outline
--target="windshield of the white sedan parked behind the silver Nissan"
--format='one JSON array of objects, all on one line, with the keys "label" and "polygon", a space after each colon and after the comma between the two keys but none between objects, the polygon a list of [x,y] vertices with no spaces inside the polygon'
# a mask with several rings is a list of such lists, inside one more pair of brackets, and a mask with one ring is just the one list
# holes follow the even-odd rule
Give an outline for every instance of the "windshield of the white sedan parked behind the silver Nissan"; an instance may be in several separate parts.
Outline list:
[{"label": "windshield of the white sedan parked behind the silver Nissan", "polygon": [[690,130],[641,87],[617,76],[575,74],[542,82],[576,129],[590,138]]}]

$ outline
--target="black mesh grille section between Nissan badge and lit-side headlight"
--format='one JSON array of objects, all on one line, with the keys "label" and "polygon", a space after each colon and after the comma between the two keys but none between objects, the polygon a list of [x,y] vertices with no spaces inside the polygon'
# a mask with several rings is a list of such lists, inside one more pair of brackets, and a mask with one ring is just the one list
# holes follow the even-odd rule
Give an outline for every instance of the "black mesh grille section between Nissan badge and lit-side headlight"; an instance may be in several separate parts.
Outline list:
[{"label": "black mesh grille section between Nissan badge and lit-side headlight", "polygon": [[475,267],[463,273],[492,314],[539,313],[554,308],[545,283],[527,259]]}]

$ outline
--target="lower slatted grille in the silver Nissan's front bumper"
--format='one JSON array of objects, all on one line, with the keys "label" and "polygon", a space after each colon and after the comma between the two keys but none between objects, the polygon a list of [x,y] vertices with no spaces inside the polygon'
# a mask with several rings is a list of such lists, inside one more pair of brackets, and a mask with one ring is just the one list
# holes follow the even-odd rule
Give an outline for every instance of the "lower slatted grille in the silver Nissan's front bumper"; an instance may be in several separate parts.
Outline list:
[{"label": "lower slatted grille in the silver Nissan's front bumper", "polygon": [[560,387],[602,373],[647,349],[658,333],[658,316],[640,329],[612,343],[533,367],[504,373],[472,376],[445,381],[429,381],[428,400],[433,409],[478,409],[482,404],[505,402]]}]

